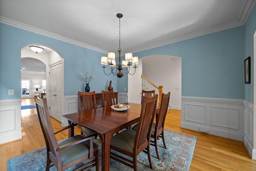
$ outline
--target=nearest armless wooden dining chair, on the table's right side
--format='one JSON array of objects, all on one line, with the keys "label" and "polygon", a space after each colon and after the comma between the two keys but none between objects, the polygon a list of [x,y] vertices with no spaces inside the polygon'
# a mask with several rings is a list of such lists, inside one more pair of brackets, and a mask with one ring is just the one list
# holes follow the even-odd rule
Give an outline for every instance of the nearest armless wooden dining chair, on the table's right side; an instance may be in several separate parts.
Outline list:
[{"label": "nearest armless wooden dining chair, on the table's right side", "polygon": [[[134,171],[138,170],[137,155],[141,151],[148,154],[150,168],[153,169],[150,155],[150,133],[156,113],[157,99],[157,94],[153,97],[142,97],[140,121],[137,131],[126,129],[110,139],[110,158],[132,167]],[[115,153],[116,151],[132,157],[132,160],[118,155],[118,153]]]}]

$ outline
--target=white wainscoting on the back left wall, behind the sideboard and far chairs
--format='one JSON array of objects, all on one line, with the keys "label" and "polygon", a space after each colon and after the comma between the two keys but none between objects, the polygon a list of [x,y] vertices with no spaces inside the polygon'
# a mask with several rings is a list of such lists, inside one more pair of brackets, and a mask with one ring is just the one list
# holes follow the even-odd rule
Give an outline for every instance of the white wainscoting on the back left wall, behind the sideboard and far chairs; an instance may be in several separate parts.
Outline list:
[{"label": "white wainscoting on the back left wall, behind the sideboard and far chairs", "polygon": [[[126,103],[127,93],[118,93],[118,103]],[[64,115],[78,112],[78,95],[64,96]],[[68,120],[62,117],[62,127],[68,126]]]}]

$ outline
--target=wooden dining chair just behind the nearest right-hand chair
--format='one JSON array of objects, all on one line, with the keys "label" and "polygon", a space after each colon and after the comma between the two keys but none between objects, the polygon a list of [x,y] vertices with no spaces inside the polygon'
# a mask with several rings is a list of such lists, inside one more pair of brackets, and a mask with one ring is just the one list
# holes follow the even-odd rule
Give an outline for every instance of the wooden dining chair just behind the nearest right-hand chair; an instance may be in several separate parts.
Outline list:
[{"label": "wooden dining chair just behind the nearest right-hand chair", "polygon": [[[150,145],[155,146],[158,159],[160,159],[160,155],[158,153],[158,146],[157,146],[157,139],[159,139],[159,137],[162,138],[164,143],[164,148],[166,149],[166,145],[164,141],[164,121],[166,118],[166,113],[168,111],[169,101],[170,101],[170,92],[168,92],[167,94],[162,93],[159,113],[156,117],[156,122],[153,123],[152,131],[151,131],[151,138],[153,138],[153,140],[152,139],[150,140]],[[132,130],[134,131],[137,131],[137,129],[138,129],[138,124],[132,127]]]}]

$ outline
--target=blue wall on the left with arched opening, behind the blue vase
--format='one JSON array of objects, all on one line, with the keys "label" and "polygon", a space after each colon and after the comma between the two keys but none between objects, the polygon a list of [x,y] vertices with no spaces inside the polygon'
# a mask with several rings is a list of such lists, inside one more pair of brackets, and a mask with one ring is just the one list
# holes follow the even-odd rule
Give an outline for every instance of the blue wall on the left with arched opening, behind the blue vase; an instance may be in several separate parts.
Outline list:
[{"label": "blue wall on the left with arched opening, behind the blue vase", "polygon": [[[106,54],[0,23],[0,100],[20,99],[21,49],[34,43],[50,46],[64,57],[64,95],[84,91],[80,72],[94,73],[91,91],[107,90],[110,80],[117,90],[116,77],[106,77],[100,64],[101,56]],[[14,89],[14,95],[8,95],[8,89]]]}]

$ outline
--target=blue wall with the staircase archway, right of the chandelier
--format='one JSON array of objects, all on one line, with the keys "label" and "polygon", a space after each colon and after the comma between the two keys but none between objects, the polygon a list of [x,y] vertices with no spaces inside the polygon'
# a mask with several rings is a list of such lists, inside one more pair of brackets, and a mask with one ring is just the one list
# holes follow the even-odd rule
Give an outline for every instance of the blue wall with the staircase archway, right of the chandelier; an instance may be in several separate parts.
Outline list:
[{"label": "blue wall with the staircase archway, right of the chandelier", "polygon": [[[138,52],[182,58],[182,96],[243,99],[244,27]],[[162,76],[168,79],[168,75]]]}]

